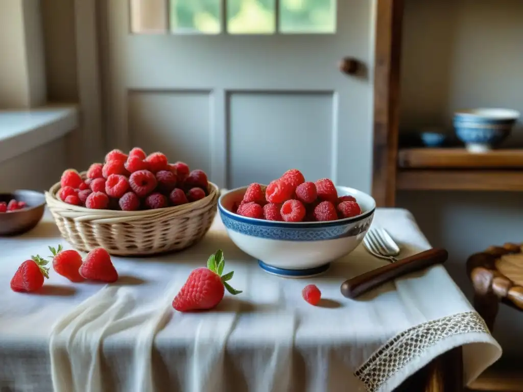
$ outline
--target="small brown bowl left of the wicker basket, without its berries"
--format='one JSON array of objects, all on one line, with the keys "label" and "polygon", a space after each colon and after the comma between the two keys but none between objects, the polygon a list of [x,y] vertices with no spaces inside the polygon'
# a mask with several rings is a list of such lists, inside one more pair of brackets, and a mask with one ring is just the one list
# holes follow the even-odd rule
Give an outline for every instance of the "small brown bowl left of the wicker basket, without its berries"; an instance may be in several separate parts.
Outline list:
[{"label": "small brown bowl left of the wicker basket, without its berries", "polygon": [[46,209],[46,197],[43,193],[30,190],[17,190],[13,193],[0,193],[0,201],[10,200],[26,202],[23,210],[0,212],[0,236],[13,236],[28,232],[42,219]]}]

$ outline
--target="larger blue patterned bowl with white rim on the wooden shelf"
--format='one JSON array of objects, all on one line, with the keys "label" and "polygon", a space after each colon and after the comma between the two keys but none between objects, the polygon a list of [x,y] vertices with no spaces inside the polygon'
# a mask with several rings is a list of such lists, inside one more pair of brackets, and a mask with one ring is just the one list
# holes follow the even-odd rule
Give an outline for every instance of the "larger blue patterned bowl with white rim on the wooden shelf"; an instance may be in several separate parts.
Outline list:
[{"label": "larger blue patterned bowl with white rim on the wooden shelf", "polygon": [[470,152],[489,151],[506,139],[520,113],[511,109],[471,109],[454,113],[454,129]]}]

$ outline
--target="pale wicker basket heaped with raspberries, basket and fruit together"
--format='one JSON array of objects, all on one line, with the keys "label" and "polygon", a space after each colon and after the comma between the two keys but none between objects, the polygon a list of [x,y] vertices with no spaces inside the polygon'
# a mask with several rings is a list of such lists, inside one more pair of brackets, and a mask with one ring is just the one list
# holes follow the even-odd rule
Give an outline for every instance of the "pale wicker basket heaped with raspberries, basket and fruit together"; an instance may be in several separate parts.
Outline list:
[{"label": "pale wicker basket heaped with raspberries, basket and fruit together", "polygon": [[67,169],[46,192],[62,236],[78,250],[144,256],[185,249],[209,230],[219,190],[203,170],[135,147],[86,172]]}]

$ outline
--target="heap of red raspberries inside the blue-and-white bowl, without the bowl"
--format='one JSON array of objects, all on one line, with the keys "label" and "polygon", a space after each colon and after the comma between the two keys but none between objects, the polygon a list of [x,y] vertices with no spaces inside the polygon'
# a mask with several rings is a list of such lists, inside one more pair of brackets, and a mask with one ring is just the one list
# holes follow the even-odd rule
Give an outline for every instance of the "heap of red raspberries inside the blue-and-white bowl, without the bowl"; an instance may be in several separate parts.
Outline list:
[{"label": "heap of red raspberries inside the blue-and-white bowl, without the bowl", "polygon": [[267,186],[249,185],[233,212],[267,221],[326,222],[358,216],[361,207],[353,196],[339,196],[330,179],[305,181],[290,169]]}]

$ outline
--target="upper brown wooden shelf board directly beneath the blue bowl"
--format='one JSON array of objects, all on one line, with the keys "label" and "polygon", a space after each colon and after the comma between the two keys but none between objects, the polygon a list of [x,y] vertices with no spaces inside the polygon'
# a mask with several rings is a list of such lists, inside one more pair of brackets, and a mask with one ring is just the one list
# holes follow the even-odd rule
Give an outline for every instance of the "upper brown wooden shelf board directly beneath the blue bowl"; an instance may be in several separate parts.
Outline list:
[{"label": "upper brown wooden shelf board directly beneath the blue bowl", "polygon": [[469,153],[464,148],[402,148],[400,168],[523,169],[523,149]]}]

